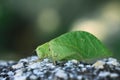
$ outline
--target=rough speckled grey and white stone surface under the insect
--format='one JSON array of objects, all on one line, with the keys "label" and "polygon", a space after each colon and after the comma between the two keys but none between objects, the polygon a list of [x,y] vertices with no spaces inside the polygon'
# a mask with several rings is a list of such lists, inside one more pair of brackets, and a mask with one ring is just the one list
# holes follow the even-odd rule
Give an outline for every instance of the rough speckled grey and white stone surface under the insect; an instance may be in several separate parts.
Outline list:
[{"label": "rough speckled grey and white stone surface under the insect", "polygon": [[77,60],[53,64],[37,56],[18,62],[0,60],[0,80],[120,80],[120,62],[107,58],[91,64]]}]

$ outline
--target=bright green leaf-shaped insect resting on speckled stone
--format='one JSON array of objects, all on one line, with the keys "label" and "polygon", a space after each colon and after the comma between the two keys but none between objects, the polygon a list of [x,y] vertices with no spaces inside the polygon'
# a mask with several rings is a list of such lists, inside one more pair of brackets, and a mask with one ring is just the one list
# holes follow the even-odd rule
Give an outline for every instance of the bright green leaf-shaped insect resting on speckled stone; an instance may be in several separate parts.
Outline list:
[{"label": "bright green leaf-shaped insect resting on speckled stone", "polygon": [[65,33],[36,49],[40,59],[50,58],[53,61],[93,60],[112,56],[112,53],[94,35],[85,31]]}]

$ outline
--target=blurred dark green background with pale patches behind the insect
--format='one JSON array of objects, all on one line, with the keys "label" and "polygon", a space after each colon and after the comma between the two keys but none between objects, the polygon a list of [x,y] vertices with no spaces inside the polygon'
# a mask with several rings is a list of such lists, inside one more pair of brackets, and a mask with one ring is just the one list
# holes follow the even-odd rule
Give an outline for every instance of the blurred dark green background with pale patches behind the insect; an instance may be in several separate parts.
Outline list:
[{"label": "blurred dark green background with pale patches behind the insect", "polygon": [[19,60],[65,32],[96,35],[120,59],[119,0],[0,0],[0,59]]}]

